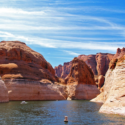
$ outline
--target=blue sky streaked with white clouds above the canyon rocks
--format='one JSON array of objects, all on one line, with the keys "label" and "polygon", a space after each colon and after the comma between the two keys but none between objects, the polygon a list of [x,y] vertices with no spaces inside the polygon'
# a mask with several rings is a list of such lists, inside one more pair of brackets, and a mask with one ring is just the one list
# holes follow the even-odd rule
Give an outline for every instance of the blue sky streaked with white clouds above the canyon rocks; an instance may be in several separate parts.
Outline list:
[{"label": "blue sky streaked with white clouds above the canyon rocks", "polygon": [[125,47],[124,0],[2,0],[0,40],[25,42],[57,66]]}]

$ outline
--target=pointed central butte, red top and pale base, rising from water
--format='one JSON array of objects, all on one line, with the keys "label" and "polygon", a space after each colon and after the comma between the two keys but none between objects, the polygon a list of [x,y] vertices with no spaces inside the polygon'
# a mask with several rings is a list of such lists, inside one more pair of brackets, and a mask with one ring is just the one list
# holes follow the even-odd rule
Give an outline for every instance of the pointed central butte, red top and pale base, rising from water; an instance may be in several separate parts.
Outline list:
[{"label": "pointed central butte, red top and pale base, rising from water", "polygon": [[68,100],[89,100],[99,94],[93,72],[84,61],[78,58],[72,60],[71,70],[65,81],[67,84]]}]

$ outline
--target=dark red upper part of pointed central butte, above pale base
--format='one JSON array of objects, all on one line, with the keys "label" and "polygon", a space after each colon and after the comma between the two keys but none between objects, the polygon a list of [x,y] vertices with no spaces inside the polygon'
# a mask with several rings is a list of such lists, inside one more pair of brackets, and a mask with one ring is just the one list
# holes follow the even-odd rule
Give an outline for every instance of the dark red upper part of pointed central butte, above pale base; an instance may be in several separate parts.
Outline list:
[{"label": "dark red upper part of pointed central butte, above pale base", "polygon": [[74,82],[95,85],[94,74],[86,63],[78,58],[72,60],[72,66],[69,75],[66,78],[67,84]]}]

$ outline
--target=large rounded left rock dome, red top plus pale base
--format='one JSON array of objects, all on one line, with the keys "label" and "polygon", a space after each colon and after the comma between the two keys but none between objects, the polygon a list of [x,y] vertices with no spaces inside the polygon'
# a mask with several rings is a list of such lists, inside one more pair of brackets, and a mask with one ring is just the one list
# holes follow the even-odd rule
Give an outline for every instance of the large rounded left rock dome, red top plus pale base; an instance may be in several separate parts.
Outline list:
[{"label": "large rounded left rock dome, red top plus pale base", "polygon": [[[19,41],[0,42],[0,76],[9,100],[65,100],[65,86],[44,57]],[[64,93],[64,94],[63,94]]]}]

